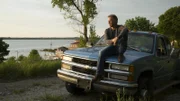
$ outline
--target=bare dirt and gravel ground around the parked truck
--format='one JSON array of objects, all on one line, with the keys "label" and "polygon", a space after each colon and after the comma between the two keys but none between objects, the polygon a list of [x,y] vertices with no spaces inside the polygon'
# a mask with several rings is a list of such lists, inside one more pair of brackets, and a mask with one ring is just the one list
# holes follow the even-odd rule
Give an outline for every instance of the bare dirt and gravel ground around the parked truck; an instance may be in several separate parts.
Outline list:
[{"label": "bare dirt and gravel ground around the parked truck", "polygon": [[[100,101],[101,98],[101,94],[94,91],[82,96],[71,95],[57,77],[0,83],[0,101],[44,101],[48,95],[60,97],[61,101]],[[180,89],[169,88],[156,96],[157,101],[180,101]]]}]

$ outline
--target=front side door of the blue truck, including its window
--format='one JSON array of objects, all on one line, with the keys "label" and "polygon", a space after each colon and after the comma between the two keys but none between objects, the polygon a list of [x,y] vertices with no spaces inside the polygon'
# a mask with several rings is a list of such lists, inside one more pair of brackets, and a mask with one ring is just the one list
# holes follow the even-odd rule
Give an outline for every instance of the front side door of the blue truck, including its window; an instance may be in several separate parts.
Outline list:
[{"label": "front side door of the blue truck, including its window", "polygon": [[173,74],[173,61],[171,60],[168,46],[169,42],[164,37],[159,36],[156,43],[156,64],[155,80],[159,83],[159,86],[163,86],[169,83]]}]

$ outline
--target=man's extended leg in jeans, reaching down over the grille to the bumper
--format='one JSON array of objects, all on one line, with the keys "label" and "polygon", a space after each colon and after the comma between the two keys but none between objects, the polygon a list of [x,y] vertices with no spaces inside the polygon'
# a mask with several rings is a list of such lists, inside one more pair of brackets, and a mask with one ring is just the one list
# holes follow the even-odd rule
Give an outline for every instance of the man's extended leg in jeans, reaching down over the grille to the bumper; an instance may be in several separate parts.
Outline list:
[{"label": "man's extended leg in jeans, reaching down over the grille to the bumper", "polygon": [[111,56],[113,54],[117,54],[117,46],[107,46],[101,51],[99,51],[99,58],[97,62],[97,71],[94,81],[101,78],[104,73],[104,63],[107,56]]}]

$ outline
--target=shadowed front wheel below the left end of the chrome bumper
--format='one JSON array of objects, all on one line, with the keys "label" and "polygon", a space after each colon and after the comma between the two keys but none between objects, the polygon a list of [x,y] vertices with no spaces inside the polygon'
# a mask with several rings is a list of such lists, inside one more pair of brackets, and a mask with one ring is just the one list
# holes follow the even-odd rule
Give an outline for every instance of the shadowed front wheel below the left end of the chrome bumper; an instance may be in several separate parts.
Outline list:
[{"label": "shadowed front wheel below the left end of the chrome bumper", "polygon": [[73,95],[82,95],[85,93],[84,89],[76,87],[75,84],[66,82],[66,90]]}]

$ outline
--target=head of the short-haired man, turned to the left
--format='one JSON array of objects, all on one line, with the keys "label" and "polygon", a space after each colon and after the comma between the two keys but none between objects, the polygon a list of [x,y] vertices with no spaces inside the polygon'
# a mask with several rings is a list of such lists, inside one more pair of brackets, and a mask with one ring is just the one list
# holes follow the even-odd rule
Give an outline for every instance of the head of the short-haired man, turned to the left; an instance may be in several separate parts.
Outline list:
[{"label": "head of the short-haired man, turned to the left", "polygon": [[115,14],[111,14],[108,16],[108,24],[110,27],[115,27],[118,23],[118,18]]}]

